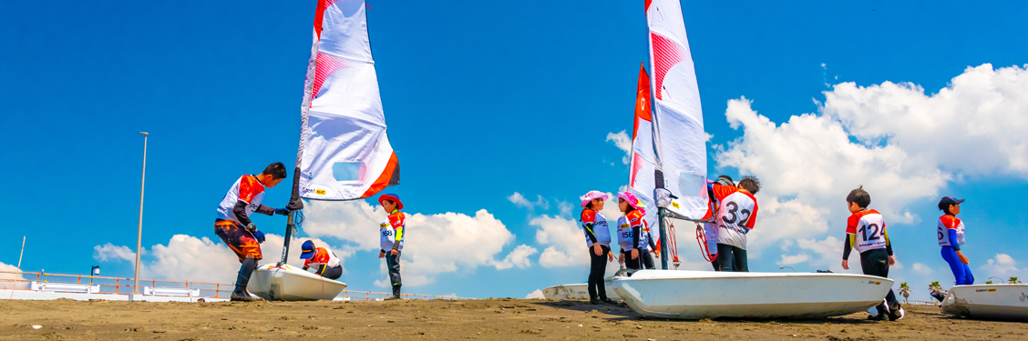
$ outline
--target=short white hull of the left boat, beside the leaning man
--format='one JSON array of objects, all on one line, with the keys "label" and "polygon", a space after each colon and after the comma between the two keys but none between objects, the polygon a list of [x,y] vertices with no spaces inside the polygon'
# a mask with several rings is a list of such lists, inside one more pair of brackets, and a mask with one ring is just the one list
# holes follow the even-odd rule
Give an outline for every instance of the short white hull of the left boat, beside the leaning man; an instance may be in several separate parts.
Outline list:
[{"label": "short white hull of the left boat, beside the leaning man", "polygon": [[267,264],[254,270],[247,290],[268,301],[332,300],[346,283],[328,279],[300,268]]}]

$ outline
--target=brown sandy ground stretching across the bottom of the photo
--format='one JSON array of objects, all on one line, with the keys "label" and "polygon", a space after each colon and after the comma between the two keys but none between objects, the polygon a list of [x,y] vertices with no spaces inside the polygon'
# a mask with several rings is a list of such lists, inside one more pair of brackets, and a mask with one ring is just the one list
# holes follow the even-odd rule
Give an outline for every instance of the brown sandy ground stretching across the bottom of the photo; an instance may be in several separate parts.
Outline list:
[{"label": "brown sandy ground stretching across the bottom of the photo", "polygon": [[[1028,340],[1028,323],[954,318],[907,306],[815,320],[665,320],[623,306],[489,299],[148,303],[0,300],[0,340]],[[32,326],[42,326],[33,329]]]}]

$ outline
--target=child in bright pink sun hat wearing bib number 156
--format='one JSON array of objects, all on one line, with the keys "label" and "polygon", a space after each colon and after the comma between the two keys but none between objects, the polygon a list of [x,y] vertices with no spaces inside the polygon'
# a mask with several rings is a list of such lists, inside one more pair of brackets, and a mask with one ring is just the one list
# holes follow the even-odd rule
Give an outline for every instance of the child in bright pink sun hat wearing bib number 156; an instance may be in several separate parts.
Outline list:
[{"label": "child in bright pink sun hat wearing bib number 156", "polygon": [[[618,193],[618,209],[625,215],[618,218],[618,244],[621,256],[618,261],[629,269],[642,268],[641,252],[646,251],[646,236],[642,233],[647,225],[642,216],[646,215],[646,204],[629,192]],[[641,251],[640,251],[641,249]]]}]

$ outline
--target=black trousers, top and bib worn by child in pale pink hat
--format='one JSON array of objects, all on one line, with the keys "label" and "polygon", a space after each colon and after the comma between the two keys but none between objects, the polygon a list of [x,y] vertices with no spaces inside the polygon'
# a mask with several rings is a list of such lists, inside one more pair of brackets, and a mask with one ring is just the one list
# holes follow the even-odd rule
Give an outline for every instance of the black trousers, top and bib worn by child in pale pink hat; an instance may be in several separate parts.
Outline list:
[{"label": "black trousers, top and bib worn by child in pale pink hat", "polygon": [[[589,301],[607,301],[607,289],[603,286],[603,274],[607,271],[608,255],[611,254],[611,230],[607,226],[603,214],[585,209],[582,210],[582,229],[585,231],[586,244],[589,252]],[[593,244],[599,244],[600,254],[596,255]]]}]

